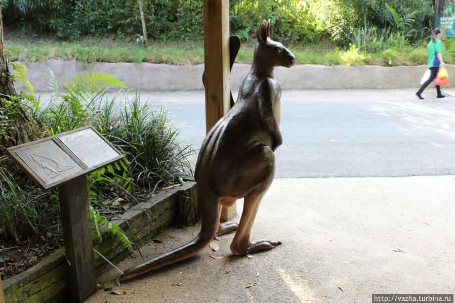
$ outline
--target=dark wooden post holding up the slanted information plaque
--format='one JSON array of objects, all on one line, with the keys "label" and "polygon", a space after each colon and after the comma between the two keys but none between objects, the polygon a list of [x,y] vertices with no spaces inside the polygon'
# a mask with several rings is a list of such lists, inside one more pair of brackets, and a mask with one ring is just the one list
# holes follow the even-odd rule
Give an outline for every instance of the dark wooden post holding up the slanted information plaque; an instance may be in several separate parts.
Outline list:
[{"label": "dark wooden post holding up the slanted information plaque", "polygon": [[70,294],[75,302],[83,302],[97,289],[86,175],[58,190],[61,218],[66,219],[62,224],[65,254],[71,264],[67,265]]}]

